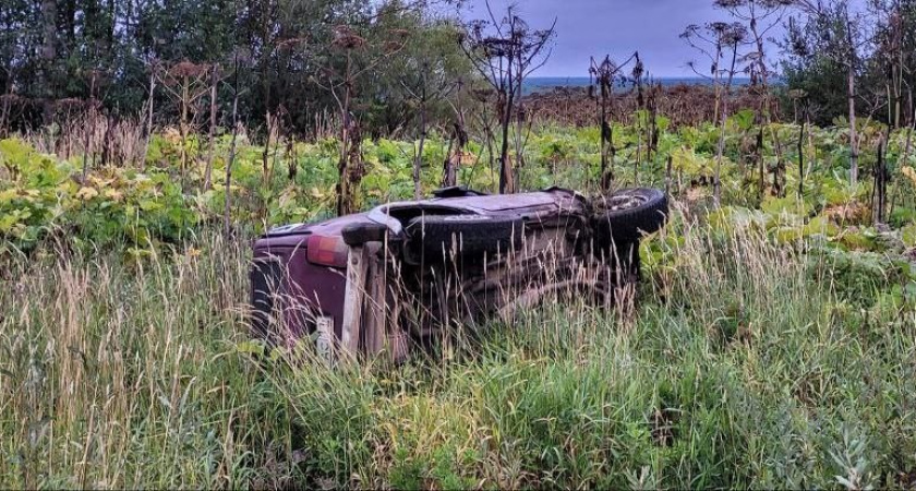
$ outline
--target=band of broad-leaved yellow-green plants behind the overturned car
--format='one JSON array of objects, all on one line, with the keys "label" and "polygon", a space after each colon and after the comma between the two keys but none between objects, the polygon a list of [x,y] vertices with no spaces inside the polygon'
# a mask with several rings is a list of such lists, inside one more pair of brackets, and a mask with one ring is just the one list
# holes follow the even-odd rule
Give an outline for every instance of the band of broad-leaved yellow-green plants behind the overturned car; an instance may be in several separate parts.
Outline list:
[{"label": "band of broad-leaved yellow-green plants behind the overturned car", "polygon": [[[875,243],[870,181],[847,181],[847,149],[842,128],[813,128],[803,141],[804,177],[794,166],[797,156],[778,158],[772,145],[756,157],[757,130],[752,115],[732,118],[723,166],[723,203],[716,216],[742,216],[756,220],[774,235],[788,239],[823,233],[844,248],[883,250]],[[667,128],[664,118],[659,127]],[[797,139],[798,127],[773,124],[767,129],[782,142]],[[714,166],[716,129],[683,127],[661,134],[656,152],[640,149],[644,124],[617,125],[615,134],[624,149],[618,155],[617,185],[664,187],[695,205],[706,205]],[[877,144],[883,129],[864,128],[863,135]],[[913,181],[916,155],[906,155],[907,131],[891,133],[887,166],[892,176],[888,221],[903,230],[912,243],[916,206]],[[526,165],[520,169],[523,189],[564,185],[596,189],[600,148],[596,129],[545,127],[529,137]],[[85,178],[82,158],[60,159],[37,152],[22,140],[0,142],[0,236],[5,248],[29,250],[41,241],[64,238],[95,246],[126,242],[136,248],[160,242],[179,243],[222,214],[225,167],[229,137],[217,145],[214,185],[204,189],[206,146],[196,137],[184,145],[192,161],[186,176],[179,171],[182,140],[176,132],[156,135],[143,168],[108,166],[94,168]],[[786,143],[784,143],[786,145]],[[379,139],[363,144],[365,178],[360,188],[362,207],[413,195],[411,179],[414,142]],[[265,227],[328,216],[334,208],[338,144],[334,139],[293,142],[267,149],[240,145],[232,180],[231,220],[238,228],[262,231]],[[425,192],[438,185],[447,142],[434,137],[424,147],[421,184]],[[494,189],[498,168],[485,147],[470,144],[462,155],[459,182],[486,191]],[[667,157],[671,169],[666,178]],[[639,158],[639,160],[637,160]],[[864,165],[873,167],[876,155],[866,154]],[[905,158],[905,160],[904,160]],[[266,167],[265,167],[266,163]],[[801,182],[799,182],[801,181]],[[762,189],[761,189],[762,184]],[[798,196],[798,189],[801,195]],[[868,230],[872,230],[869,232]]]}]

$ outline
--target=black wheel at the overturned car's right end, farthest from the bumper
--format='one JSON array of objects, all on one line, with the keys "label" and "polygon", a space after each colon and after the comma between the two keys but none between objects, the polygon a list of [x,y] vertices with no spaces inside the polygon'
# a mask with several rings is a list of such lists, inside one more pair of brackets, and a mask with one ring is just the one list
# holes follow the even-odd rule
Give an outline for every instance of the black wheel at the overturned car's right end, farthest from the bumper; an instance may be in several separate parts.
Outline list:
[{"label": "black wheel at the overturned car's right end, farthest from the bumper", "polygon": [[596,208],[592,226],[598,239],[620,244],[638,241],[664,227],[668,200],[658,189],[625,189],[599,200]]}]

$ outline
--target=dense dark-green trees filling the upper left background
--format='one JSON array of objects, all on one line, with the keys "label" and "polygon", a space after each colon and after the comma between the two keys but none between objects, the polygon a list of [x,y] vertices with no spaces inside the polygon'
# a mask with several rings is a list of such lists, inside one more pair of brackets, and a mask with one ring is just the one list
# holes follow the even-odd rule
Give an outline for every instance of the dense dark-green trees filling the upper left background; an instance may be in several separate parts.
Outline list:
[{"label": "dense dark-green trees filling the upper left background", "polygon": [[[91,99],[107,113],[134,117],[150,100],[157,119],[173,120],[177,93],[162,85],[179,63],[219,65],[218,105],[229,118],[231,92],[243,92],[241,119],[254,125],[281,113],[299,132],[337,111],[330,85],[348,62],[366,72],[357,81],[357,112],[388,132],[410,121],[410,95],[401,82],[425,68],[448,81],[469,73],[458,46],[449,2],[369,0],[248,2],[11,0],[0,5],[0,127],[34,128],[63,120]],[[340,26],[359,38],[343,48]],[[384,70],[373,70],[379,59]],[[349,61],[348,61],[349,60]],[[431,60],[435,60],[432,63]],[[227,87],[242,72],[243,87]],[[192,86],[207,92],[209,77]],[[192,106],[206,120],[205,97]],[[202,104],[204,103],[204,104]],[[445,111],[441,101],[432,110]],[[198,113],[200,112],[200,113]]]}]

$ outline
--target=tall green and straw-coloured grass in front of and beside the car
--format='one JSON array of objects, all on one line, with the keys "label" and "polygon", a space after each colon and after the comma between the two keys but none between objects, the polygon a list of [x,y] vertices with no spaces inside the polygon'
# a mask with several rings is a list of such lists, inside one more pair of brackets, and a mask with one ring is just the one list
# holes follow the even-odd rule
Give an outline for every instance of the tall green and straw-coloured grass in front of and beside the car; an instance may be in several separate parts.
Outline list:
[{"label": "tall green and straw-coloured grass in front of and beside the car", "polygon": [[245,244],[14,261],[0,487],[909,482],[916,313],[888,276],[678,227],[632,311],[544,306],[395,369],[251,359]]}]

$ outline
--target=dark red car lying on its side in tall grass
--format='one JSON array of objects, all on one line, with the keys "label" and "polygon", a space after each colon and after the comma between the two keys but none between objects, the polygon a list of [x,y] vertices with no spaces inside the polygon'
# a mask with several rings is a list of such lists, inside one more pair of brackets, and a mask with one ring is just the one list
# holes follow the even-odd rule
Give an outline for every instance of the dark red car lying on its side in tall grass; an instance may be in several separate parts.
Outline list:
[{"label": "dark red car lying on its side in tall grass", "polygon": [[588,199],[448,188],[274,228],[254,243],[252,328],[273,345],[314,342],[329,360],[401,360],[449,326],[511,322],[544,299],[610,307],[638,277],[639,240],[664,226],[667,207],[655,189]]}]

